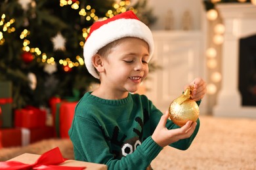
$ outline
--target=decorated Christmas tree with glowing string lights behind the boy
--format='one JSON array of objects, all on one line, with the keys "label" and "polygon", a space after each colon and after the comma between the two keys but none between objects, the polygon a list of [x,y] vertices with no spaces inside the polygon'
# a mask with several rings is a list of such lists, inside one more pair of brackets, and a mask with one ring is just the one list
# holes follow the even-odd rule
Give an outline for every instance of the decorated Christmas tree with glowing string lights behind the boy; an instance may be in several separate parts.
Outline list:
[{"label": "decorated Christmas tree with glowing string lights behind the boy", "polygon": [[79,99],[97,82],[83,62],[83,44],[97,20],[133,10],[147,25],[147,2],[5,0],[0,3],[0,81],[12,82],[13,108]]}]

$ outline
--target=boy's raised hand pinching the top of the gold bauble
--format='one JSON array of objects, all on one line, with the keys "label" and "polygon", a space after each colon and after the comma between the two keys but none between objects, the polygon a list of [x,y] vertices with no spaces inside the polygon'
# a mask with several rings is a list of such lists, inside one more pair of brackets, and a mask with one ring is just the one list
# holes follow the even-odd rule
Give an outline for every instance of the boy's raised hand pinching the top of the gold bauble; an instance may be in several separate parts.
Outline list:
[{"label": "boy's raised hand pinching the top of the gold bauble", "polygon": [[188,86],[192,85],[194,85],[194,89],[192,90],[191,98],[194,101],[200,101],[206,93],[206,83],[202,78],[195,78]]}]

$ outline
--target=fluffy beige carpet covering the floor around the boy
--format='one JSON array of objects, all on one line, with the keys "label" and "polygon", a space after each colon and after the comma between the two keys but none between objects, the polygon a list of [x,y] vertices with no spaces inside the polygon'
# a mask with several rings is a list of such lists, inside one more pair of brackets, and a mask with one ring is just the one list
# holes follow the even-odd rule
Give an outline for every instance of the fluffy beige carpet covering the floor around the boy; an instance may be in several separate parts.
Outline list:
[{"label": "fluffy beige carpet covering the floor around the boy", "polygon": [[[256,169],[256,119],[200,116],[200,120],[200,131],[190,148],[165,147],[152,161],[154,169]],[[24,152],[42,154],[56,146],[64,158],[74,159],[69,140],[50,139],[22,148],[2,148],[0,161]]]}]

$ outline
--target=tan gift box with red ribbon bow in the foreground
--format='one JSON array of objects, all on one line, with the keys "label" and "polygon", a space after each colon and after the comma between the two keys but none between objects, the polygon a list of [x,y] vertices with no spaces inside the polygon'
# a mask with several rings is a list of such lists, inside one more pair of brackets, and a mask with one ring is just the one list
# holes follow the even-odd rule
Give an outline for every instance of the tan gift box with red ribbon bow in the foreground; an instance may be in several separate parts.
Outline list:
[{"label": "tan gift box with red ribbon bow in the foreground", "polygon": [[44,154],[22,154],[9,161],[0,162],[0,169],[95,169],[106,170],[107,166],[85,161],[66,160],[58,147]]}]

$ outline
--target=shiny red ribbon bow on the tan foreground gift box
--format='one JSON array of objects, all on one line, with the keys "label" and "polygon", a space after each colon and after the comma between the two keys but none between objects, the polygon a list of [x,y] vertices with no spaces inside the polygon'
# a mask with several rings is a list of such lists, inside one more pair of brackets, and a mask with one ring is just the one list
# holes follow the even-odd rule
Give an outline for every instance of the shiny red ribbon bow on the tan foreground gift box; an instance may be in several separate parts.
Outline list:
[{"label": "shiny red ribbon bow on the tan foreground gift box", "polygon": [[42,154],[37,161],[33,164],[26,164],[19,161],[0,161],[0,169],[85,169],[85,167],[67,167],[59,166],[58,164],[64,162],[65,159],[62,157],[60,149],[58,147],[49,150]]}]

